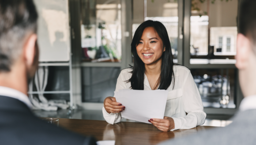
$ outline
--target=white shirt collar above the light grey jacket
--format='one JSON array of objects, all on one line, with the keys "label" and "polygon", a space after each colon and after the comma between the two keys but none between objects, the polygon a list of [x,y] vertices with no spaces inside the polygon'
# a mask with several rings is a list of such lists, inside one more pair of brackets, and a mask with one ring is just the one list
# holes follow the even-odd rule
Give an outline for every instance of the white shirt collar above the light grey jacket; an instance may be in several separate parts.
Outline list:
[{"label": "white shirt collar above the light grey jacket", "polygon": [[239,110],[245,111],[249,109],[256,109],[256,95],[245,97],[240,104]]}]

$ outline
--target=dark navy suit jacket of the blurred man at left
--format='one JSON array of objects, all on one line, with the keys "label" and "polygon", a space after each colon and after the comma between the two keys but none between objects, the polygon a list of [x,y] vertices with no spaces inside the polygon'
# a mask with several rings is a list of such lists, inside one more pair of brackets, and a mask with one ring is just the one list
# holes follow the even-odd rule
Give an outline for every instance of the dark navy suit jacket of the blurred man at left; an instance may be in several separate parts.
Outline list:
[{"label": "dark navy suit jacket of the blurred man at left", "polygon": [[96,145],[83,137],[38,119],[18,99],[0,96],[0,145]]}]

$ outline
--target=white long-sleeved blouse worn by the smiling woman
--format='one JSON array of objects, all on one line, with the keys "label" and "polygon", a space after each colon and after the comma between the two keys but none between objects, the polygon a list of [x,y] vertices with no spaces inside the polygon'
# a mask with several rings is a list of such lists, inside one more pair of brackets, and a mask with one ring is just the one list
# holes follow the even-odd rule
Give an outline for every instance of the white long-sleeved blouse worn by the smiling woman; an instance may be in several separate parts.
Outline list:
[{"label": "white long-sleeved blouse worn by the smiling woman", "polygon": [[[116,91],[120,89],[131,89],[131,83],[126,83],[132,76],[132,69],[123,69],[117,79]],[[173,81],[169,88],[166,109],[164,116],[172,117],[177,129],[190,129],[202,125],[205,121],[206,113],[203,111],[203,103],[196,83],[190,70],[181,65],[174,65],[175,84]],[[144,90],[151,90],[147,76],[144,74]],[[115,97],[115,96],[114,96]],[[108,113],[102,109],[103,116],[108,123],[119,123],[122,119],[120,113]],[[188,113],[186,115],[186,113]]]}]

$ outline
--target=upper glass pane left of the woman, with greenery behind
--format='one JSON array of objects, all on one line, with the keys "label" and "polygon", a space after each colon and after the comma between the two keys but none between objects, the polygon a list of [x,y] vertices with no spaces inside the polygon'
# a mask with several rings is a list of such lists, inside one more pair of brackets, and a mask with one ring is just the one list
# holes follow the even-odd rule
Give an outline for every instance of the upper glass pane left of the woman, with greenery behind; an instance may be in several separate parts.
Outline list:
[{"label": "upper glass pane left of the woman, with greenery behind", "polygon": [[85,62],[120,62],[120,0],[81,0],[81,41]]}]

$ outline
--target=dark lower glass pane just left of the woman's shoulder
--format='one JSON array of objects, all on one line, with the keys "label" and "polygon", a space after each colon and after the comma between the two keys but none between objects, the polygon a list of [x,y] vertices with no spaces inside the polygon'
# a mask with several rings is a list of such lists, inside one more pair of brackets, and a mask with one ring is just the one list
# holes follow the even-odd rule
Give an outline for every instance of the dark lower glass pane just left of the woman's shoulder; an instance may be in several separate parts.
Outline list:
[{"label": "dark lower glass pane just left of the woman's shoulder", "polygon": [[113,97],[119,73],[119,67],[83,67],[82,101],[103,102]]}]

